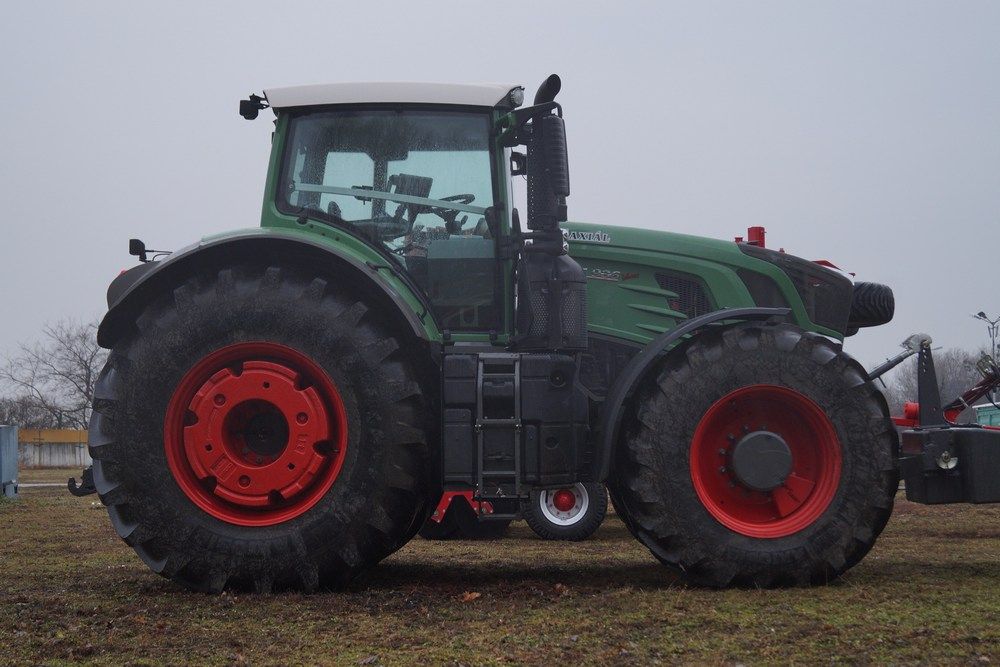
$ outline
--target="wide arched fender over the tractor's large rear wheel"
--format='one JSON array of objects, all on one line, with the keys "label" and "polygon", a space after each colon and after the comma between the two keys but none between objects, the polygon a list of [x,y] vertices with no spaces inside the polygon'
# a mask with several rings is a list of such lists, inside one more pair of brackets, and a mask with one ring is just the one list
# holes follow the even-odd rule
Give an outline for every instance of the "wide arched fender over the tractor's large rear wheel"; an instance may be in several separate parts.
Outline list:
[{"label": "wide arched fender over the tractor's large rear wheel", "polygon": [[[438,326],[426,297],[409,284],[404,274],[399,274],[395,280],[387,278],[386,274],[397,275],[389,264],[394,260],[378,257],[378,263],[366,262],[310,235],[274,229],[253,228],[205,239],[174,252],[165,260],[140,264],[112,281],[108,287],[108,312],[98,327],[97,342],[110,349],[129,330],[157,290],[179,276],[223,262],[261,259],[285,259],[320,273],[350,275],[355,287],[381,299],[385,306],[392,306],[400,324],[405,322],[416,338],[436,338]],[[408,294],[390,281],[398,283]]]}]

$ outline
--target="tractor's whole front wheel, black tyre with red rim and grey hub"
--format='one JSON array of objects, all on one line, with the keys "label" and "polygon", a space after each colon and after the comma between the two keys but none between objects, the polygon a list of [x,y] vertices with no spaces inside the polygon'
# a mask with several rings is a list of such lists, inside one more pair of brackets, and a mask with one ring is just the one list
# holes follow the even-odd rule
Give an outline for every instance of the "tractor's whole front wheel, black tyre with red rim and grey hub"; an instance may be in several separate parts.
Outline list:
[{"label": "tractor's whole front wheel, black tyre with red rim and grey hub", "polygon": [[885,400],[822,336],[758,324],[702,334],[635,405],[612,495],[636,537],[693,583],[828,582],[889,519]]}]

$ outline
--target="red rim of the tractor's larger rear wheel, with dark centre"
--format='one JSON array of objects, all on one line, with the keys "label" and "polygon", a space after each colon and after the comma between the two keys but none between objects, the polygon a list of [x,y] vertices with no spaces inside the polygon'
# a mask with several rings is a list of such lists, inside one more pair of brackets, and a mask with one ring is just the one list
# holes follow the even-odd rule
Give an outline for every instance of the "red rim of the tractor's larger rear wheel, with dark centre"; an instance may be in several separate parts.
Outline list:
[{"label": "red rim of the tractor's larger rear wheel, with dark centre", "polygon": [[312,359],[277,343],[230,345],[181,379],[164,422],[167,463],[217,519],[269,526],[322,498],[347,451],[340,393]]}]

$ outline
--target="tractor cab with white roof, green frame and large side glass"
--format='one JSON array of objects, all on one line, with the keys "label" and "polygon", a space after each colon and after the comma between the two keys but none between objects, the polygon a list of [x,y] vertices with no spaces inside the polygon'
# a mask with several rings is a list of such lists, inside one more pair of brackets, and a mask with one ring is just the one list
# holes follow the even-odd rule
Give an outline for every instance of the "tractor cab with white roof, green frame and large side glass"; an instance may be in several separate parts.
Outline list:
[{"label": "tractor cab with white roof, green frame and large side glass", "polygon": [[355,235],[415,283],[443,330],[507,331],[510,258],[498,242],[511,204],[496,137],[522,97],[510,85],[268,90],[278,121],[263,226],[308,220]]}]

